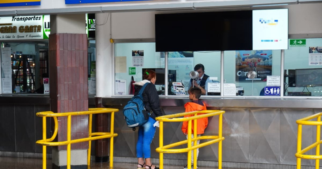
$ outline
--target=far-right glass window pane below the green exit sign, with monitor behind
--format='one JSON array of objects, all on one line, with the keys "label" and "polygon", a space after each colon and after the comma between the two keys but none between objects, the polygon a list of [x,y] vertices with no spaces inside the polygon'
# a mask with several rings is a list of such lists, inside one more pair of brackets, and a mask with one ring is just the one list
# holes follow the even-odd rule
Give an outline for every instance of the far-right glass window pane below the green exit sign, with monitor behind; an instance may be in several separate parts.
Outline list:
[{"label": "far-right glass window pane below the green exit sign, with monitor behind", "polygon": [[284,52],[285,96],[322,96],[322,38],[289,42]]}]

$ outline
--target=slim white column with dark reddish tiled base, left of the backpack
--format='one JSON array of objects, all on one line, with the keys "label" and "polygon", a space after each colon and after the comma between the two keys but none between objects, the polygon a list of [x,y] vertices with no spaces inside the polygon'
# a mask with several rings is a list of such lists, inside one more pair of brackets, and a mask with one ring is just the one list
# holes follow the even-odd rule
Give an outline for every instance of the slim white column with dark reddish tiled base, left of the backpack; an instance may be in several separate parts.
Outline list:
[{"label": "slim white column with dark reddish tiled base, left of the backpack", "polygon": [[[114,59],[112,55],[111,14],[95,14],[95,40],[96,40],[96,98],[95,106],[103,107],[102,98],[112,95]],[[108,114],[96,115],[96,131],[108,132]],[[100,139],[95,144],[95,161],[107,162],[109,160],[109,139]]]}]

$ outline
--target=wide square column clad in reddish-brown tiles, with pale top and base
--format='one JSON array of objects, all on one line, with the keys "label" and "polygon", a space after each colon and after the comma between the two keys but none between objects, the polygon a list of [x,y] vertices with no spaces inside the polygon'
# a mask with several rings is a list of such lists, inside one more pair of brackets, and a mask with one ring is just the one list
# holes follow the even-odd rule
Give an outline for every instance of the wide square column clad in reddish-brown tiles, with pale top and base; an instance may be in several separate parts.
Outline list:
[{"label": "wide square column clad in reddish-brown tiles, with pale top and base", "polygon": [[[88,110],[85,14],[51,15],[50,107],[53,112]],[[67,117],[58,117],[57,141],[67,140]],[[71,118],[71,139],[88,137],[88,115]],[[67,146],[52,147],[53,169],[66,168]],[[88,142],[71,145],[71,168],[87,169]]]}]

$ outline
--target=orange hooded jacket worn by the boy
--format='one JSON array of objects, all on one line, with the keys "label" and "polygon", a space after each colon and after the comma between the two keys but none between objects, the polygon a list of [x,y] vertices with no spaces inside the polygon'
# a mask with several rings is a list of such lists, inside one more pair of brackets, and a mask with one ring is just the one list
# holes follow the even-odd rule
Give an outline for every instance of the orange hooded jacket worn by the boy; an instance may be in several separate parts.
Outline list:
[{"label": "orange hooded jacket worn by the boy", "polygon": [[[185,112],[196,111],[196,110],[207,110],[206,106],[194,102],[188,102],[185,104]],[[198,115],[201,115],[200,113]],[[184,117],[191,117],[193,115],[185,115]],[[204,134],[204,129],[208,126],[208,117],[197,119],[197,134]],[[188,121],[182,123],[181,130],[183,133],[188,133]],[[194,122],[192,121],[192,133],[194,133]]]}]

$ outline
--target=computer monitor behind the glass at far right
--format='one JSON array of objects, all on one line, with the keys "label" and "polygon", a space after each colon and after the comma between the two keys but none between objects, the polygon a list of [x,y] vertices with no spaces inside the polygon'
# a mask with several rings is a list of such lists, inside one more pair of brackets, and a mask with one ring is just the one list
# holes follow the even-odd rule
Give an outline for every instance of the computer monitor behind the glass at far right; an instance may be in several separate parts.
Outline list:
[{"label": "computer monitor behind the glass at far right", "polygon": [[296,69],[296,87],[322,86],[322,68]]}]

